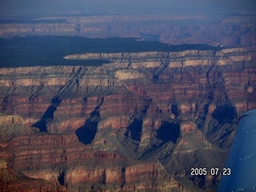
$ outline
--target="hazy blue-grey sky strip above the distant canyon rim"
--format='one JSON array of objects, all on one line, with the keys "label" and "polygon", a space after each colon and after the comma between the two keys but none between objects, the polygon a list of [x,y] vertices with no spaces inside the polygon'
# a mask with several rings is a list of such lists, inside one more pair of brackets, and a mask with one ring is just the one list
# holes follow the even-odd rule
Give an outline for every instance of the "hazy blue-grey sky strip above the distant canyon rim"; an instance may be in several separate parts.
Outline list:
[{"label": "hazy blue-grey sky strip above the distant canyon rim", "polygon": [[63,14],[256,14],[255,0],[0,0],[0,16]]}]

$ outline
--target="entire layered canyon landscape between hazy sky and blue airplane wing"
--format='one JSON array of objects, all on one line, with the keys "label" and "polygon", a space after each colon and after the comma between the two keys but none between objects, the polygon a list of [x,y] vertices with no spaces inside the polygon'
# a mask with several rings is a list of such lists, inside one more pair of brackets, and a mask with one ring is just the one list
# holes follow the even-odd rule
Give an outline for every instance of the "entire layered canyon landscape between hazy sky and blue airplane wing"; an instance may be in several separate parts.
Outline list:
[{"label": "entire layered canyon landscape between hazy sky and blue airplane wing", "polygon": [[[238,119],[256,108],[254,16],[190,16],[0,24],[2,37],[25,35],[18,37],[24,45],[28,34],[134,37],[128,47],[145,43],[143,37],[172,44],[136,52],[66,51],[54,66],[34,60],[31,66],[3,65],[0,189],[216,190],[219,175],[194,176],[191,168],[222,169]],[[184,43],[194,45],[174,46]],[[69,62],[75,64],[62,65]]]}]

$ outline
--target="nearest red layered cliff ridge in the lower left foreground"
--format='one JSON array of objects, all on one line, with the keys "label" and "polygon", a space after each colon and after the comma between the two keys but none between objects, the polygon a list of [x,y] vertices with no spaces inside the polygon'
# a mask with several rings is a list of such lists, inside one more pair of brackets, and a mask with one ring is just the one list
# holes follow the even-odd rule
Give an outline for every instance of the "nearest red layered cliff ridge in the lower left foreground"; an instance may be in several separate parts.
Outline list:
[{"label": "nearest red layered cliff ridge in the lower left foreground", "polygon": [[74,134],[21,136],[12,139],[2,150],[8,159],[8,167],[6,164],[1,166],[2,171],[11,169],[26,175],[23,179],[15,179],[15,182],[2,181],[4,190],[18,188],[19,185],[15,186],[17,181],[25,186],[30,184],[34,190],[34,185],[45,183],[43,187],[36,186],[42,187],[42,191],[54,191],[54,183],[58,191],[132,191],[146,188],[169,191],[182,187],[180,182],[170,178],[159,162],[141,164],[119,154],[97,151],[78,142]]}]

